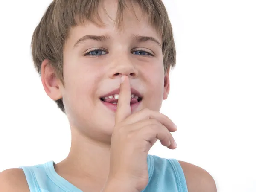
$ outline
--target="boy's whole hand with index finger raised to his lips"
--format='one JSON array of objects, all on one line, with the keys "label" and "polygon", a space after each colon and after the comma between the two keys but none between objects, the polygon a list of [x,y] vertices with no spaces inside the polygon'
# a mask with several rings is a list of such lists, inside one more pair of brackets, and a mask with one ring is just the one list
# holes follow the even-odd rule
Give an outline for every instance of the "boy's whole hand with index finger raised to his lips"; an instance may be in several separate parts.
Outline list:
[{"label": "boy's whole hand with index finger raised to his lips", "polygon": [[130,191],[140,192],[148,184],[148,151],[157,140],[163,146],[175,149],[170,132],[176,131],[177,126],[157,111],[143,109],[131,114],[131,85],[128,77],[123,77],[111,137],[108,182],[122,183]]}]

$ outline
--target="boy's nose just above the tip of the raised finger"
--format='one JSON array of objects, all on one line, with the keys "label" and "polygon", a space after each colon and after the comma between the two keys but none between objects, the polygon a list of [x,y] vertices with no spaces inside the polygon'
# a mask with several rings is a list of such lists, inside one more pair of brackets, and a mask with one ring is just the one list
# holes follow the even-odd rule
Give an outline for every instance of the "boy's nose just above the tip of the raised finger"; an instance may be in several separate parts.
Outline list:
[{"label": "boy's nose just above the tip of the raised finger", "polygon": [[130,78],[138,76],[138,70],[136,69],[130,58],[115,58],[111,62],[111,69],[109,70],[108,76],[111,79],[114,79],[122,75],[126,75]]}]

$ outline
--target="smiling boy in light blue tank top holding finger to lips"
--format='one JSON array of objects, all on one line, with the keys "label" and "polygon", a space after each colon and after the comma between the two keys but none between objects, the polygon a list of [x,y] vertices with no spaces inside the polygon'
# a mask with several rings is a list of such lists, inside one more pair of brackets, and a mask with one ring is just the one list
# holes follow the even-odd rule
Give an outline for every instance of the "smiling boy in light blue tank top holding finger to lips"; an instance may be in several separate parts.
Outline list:
[{"label": "smiling boy in light blue tank top holding finger to lips", "polygon": [[67,114],[72,142],[58,164],[8,169],[5,192],[216,192],[204,169],[148,155],[175,149],[161,114],[175,66],[161,0],[54,0],[32,38],[44,90]]}]

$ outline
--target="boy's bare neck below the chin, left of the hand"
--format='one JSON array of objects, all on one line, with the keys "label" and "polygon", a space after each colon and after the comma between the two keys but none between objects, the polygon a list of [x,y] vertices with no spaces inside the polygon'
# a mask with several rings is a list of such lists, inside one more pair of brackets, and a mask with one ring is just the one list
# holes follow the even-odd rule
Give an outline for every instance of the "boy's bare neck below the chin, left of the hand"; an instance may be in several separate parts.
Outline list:
[{"label": "boy's bare neck below the chin, left of the hand", "polygon": [[56,164],[56,172],[61,176],[104,184],[109,172],[110,143],[93,140],[75,128],[71,128],[71,133],[70,153]]}]

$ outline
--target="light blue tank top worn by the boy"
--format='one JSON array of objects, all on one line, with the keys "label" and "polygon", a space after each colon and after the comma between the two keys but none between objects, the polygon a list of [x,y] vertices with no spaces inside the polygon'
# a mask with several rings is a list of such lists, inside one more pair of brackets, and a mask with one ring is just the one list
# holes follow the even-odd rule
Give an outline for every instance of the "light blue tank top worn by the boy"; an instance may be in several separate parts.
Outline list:
[{"label": "light blue tank top worn by the boy", "polygon": [[[148,185],[142,192],[188,192],[180,163],[148,155]],[[82,192],[57,174],[54,161],[36,166],[21,166],[30,192]]]}]

